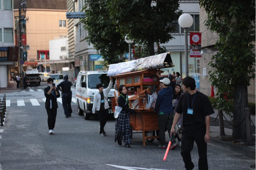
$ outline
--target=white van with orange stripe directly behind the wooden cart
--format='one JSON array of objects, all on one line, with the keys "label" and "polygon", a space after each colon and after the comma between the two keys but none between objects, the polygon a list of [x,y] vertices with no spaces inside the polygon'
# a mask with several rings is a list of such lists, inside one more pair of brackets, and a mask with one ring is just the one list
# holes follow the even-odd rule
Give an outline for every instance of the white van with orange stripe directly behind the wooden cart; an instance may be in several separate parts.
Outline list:
[{"label": "white van with orange stripe directly behind the wooden cart", "polygon": [[[103,88],[109,86],[109,76],[107,71],[80,71],[76,79],[76,104],[78,114],[84,116],[85,120],[90,120],[93,109],[94,94],[99,90],[96,88],[98,83],[103,85]],[[112,98],[114,97],[114,81],[113,86],[108,95],[109,114],[112,112]],[[97,111],[96,111],[97,113]]]}]

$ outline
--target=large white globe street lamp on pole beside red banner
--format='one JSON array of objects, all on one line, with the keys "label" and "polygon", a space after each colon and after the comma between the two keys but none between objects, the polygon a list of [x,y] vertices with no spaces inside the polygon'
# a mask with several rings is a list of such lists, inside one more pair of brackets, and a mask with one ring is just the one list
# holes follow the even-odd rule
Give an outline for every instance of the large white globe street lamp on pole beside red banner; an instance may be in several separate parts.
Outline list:
[{"label": "large white globe street lamp on pole beside red banner", "polygon": [[188,28],[193,24],[193,18],[189,14],[182,14],[179,19],[178,23],[182,28],[184,28],[185,33],[185,67],[186,67],[186,77],[188,77]]}]

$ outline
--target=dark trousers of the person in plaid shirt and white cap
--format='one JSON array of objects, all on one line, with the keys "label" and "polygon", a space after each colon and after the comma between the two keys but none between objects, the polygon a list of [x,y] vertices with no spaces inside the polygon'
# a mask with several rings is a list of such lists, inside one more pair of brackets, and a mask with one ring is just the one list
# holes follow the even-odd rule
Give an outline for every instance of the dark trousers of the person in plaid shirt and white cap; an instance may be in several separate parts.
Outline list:
[{"label": "dark trousers of the person in plaid shirt and white cap", "polygon": [[[159,140],[160,144],[165,145],[165,128],[171,137],[170,132],[173,124],[173,114],[160,114],[158,117],[158,126],[159,126]],[[175,137],[173,137],[172,144],[175,143]]]}]

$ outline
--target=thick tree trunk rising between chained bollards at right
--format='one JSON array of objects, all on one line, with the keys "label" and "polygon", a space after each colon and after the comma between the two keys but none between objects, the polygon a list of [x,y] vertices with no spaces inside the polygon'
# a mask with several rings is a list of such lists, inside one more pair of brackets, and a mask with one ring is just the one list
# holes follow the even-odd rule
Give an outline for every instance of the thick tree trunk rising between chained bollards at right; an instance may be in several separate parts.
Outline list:
[{"label": "thick tree trunk rising between chained bollards at right", "polygon": [[[234,124],[239,124],[245,118],[245,107],[248,106],[248,89],[244,84],[236,84],[234,88]],[[243,121],[233,126],[233,139],[246,139],[246,124]]]}]

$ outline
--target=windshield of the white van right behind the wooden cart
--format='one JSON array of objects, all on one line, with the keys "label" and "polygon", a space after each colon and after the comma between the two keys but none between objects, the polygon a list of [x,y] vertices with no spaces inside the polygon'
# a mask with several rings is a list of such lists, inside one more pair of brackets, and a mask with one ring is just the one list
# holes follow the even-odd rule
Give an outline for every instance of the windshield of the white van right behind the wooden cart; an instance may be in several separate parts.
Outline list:
[{"label": "windshield of the white van right behind the wooden cart", "polygon": [[[116,79],[113,78],[113,86],[114,88],[114,81]],[[88,87],[89,88],[96,88],[96,85],[98,83],[101,83],[104,88],[107,88],[109,86],[109,76],[107,74],[91,74],[88,76]]]}]

